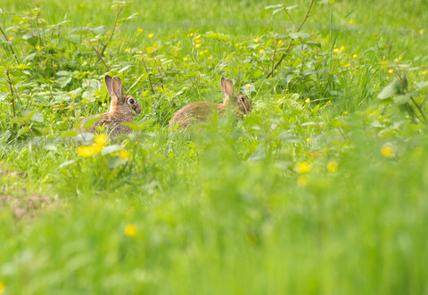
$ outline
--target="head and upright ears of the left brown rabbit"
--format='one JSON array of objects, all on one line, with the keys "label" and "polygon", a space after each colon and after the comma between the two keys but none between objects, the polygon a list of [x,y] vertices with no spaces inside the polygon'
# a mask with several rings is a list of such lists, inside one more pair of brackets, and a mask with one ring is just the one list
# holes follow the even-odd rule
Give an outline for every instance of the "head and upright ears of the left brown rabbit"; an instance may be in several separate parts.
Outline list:
[{"label": "head and upright ears of the left brown rabbit", "polygon": [[122,80],[119,77],[105,76],[105,86],[111,96],[109,112],[121,112],[129,117],[136,117],[141,113],[141,106],[131,95],[123,93]]}]

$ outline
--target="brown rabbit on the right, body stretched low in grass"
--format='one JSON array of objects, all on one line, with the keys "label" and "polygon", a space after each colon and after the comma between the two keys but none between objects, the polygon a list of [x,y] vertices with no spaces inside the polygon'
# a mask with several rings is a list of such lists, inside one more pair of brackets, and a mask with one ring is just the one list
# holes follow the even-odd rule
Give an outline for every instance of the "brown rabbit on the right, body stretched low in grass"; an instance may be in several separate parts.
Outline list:
[{"label": "brown rabbit on the right, body stretched low in grass", "polygon": [[[182,128],[191,126],[193,123],[202,123],[210,120],[212,113],[218,111],[218,115],[221,116],[227,110],[231,108],[239,113],[249,113],[251,111],[251,103],[243,94],[234,94],[234,82],[228,78],[220,79],[221,90],[225,94],[225,101],[223,103],[214,102],[192,102],[185,105],[183,108],[178,110],[172,119],[169,121],[169,129],[173,129],[176,125]],[[236,110],[238,106],[239,111]]]}]

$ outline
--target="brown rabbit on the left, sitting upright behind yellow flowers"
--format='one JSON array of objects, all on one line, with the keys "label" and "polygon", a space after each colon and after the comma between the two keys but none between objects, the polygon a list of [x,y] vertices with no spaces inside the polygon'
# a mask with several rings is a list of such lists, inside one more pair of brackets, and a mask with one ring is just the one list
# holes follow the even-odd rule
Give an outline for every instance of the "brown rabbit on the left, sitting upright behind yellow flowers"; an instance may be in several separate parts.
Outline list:
[{"label": "brown rabbit on the left, sitting upright behind yellow flowers", "polygon": [[[131,95],[123,93],[122,81],[119,77],[111,78],[109,75],[105,76],[105,86],[111,96],[110,110],[103,114],[97,114],[89,116],[82,121],[82,132],[95,132],[95,128],[98,126],[105,126],[112,137],[119,134],[132,133],[130,127],[121,125],[124,122],[133,122],[133,118],[141,113],[141,106],[136,102],[136,99]],[[85,123],[88,119],[100,117],[87,130],[85,129]]]}]

